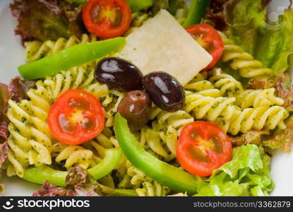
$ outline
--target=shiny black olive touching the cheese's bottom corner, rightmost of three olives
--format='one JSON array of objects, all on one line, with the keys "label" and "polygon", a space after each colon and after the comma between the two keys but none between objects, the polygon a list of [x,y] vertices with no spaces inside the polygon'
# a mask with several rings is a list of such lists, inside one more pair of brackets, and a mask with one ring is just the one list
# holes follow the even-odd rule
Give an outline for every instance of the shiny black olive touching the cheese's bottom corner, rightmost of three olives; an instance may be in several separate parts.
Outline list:
[{"label": "shiny black olive touching the cheese's bottom corner, rightmost of three olives", "polygon": [[143,88],[157,107],[175,112],[184,106],[185,93],[176,78],[163,71],[149,73],[143,77]]}]

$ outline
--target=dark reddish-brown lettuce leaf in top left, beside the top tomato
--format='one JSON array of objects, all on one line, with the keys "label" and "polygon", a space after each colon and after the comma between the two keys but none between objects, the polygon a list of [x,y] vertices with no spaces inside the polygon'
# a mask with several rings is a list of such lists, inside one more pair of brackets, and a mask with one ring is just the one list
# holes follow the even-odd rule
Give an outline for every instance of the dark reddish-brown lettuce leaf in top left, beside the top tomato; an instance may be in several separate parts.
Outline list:
[{"label": "dark reddish-brown lettuce leaf in top left, beside the top tomato", "polygon": [[10,7],[18,19],[15,33],[23,42],[80,37],[84,31],[79,4],[61,0],[14,0]]}]

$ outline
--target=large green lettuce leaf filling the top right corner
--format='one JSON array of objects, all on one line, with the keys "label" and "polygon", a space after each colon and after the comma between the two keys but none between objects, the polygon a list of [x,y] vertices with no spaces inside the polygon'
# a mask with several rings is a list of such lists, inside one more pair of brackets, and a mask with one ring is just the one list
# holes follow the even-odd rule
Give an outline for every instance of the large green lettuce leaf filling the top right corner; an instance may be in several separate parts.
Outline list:
[{"label": "large green lettuce leaf filling the top right corner", "polygon": [[287,70],[293,53],[293,10],[287,9],[277,23],[270,23],[267,6],[266,0],[229,0],[225,4],[227,35],[277,75]]}]

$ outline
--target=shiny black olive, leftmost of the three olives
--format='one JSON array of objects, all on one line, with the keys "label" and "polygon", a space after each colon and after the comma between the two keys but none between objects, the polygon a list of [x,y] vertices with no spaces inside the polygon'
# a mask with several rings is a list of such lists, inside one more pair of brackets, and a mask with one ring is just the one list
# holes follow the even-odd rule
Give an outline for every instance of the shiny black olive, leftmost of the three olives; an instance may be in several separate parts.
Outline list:
[{"label": "shiny black olive, leftmost of the three olives", "polygon": [[121,58],[102,59],[95,69],[95,78],[99,83],[107,84],[109,88],[116,90],[143,90],[143,73],[138,67]]}]

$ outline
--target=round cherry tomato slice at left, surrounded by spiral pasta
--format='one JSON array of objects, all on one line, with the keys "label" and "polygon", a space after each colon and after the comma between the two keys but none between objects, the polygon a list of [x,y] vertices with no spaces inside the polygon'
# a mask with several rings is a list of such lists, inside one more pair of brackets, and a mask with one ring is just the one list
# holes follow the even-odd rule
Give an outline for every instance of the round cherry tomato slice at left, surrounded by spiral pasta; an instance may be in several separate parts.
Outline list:
[{"label": "round cherry tomato slice at left, surrounded by spiral pasta", "polygon": [[104,112],[94,95],[84,90],[68,90],[49,110],[48,124],[58,141],[77,145],[101,133]]}]

